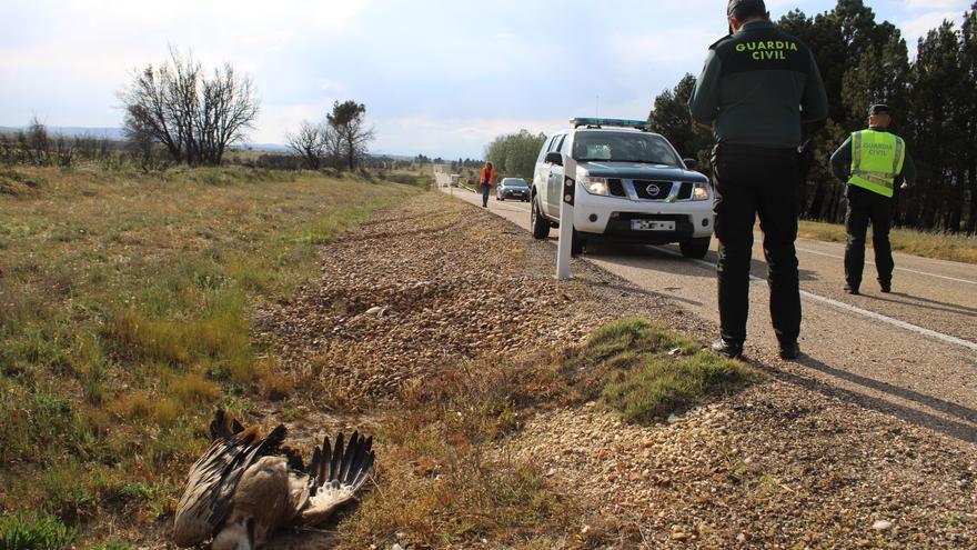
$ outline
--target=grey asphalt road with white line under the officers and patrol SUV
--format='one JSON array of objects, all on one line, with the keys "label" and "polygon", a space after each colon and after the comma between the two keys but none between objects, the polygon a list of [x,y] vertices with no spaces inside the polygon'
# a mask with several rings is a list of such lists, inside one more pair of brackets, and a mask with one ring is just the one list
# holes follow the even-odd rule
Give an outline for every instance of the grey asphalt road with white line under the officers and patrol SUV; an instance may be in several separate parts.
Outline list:
[{"label": "grey asphalt road with white line under the officers and patrol SUV", "polygon": [[[436,179],[442,191],[481,207],[479,194],[440,187],[445,172]],[[488,209],[530,229],[527,202],[500,202],[493,193]],[[776,357],[759,231],[755,242],[749,359],[788,382],[977,444],[977,266],[897,253],[893,293],[883,294],[869,249],[863,294],[849,296],[842,290],[844,244],[799,239],[803,356],[786,362]],[[714,239],[701,261],[681,258],[674,246],[605,247],[584,258],[718,326],[715,250]]]}]

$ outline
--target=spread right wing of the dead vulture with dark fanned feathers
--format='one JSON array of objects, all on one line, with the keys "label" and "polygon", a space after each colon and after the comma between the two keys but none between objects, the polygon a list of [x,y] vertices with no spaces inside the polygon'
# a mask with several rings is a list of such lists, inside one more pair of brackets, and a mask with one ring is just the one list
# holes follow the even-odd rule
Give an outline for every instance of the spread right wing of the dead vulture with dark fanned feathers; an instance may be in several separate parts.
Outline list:
[{"label": "spread right wing of the dead vulture with dark fanned feathers", "polygon": [[343,434],[330,446],[329,436],[322,447],[312,450],[312,462],[306,473],[312,478],[309,500],[299,513],[299,522],[318,526],[329,519],[341,506],[353,500],[356,491],[366,482],[373,469],[375,454],[371,449],[373,438],[362,438],[353,432],[349,443]]}]

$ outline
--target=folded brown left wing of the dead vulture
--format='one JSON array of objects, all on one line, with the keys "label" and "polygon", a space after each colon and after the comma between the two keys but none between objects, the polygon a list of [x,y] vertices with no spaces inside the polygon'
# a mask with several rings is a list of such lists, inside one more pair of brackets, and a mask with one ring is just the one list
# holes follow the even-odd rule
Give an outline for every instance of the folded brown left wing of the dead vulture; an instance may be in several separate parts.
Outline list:
[{"label": "folded brown left wing of the dead vulture", "polygon": [[230,512],[231,497],[251,464],[278,451],[285,438],[279,426],[262,438],[258,427],[244,429],[223,410],[214,413],[210,424],[210,449],[193,464],[177,506],[173,541],[178,547],[192,547],[213,537]]}]

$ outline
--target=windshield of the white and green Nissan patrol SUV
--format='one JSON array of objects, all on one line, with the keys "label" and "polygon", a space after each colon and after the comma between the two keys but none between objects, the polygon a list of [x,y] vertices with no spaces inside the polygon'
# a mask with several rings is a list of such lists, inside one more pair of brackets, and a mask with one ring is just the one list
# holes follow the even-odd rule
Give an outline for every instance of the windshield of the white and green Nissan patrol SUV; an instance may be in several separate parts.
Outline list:
[{"label": "windshield of the white and green Nissan patrol SUV", "polygon": [[573,158],[581,162],[682,166],[682,160],[664,138],[637,132],[577,132],[573,141]]}]

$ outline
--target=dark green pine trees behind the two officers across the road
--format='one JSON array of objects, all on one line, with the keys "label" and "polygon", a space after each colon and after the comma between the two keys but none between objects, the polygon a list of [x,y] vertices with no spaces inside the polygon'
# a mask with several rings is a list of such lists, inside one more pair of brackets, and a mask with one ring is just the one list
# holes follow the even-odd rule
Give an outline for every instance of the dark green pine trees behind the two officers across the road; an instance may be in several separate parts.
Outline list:
[{"label": "dark green pine trees behind the two officers across the road", "polygon": [[[815,17],[794,10],[778,24],[815,53],[830,106],[826,121],[804,129],[813,156],[802,214],[842,221],[845,189],[828,159],[850,132],[866,127],[870,104],[886,103],[918,172],[916,184],[896,197],[896,223],[977,233],[977,2],[963,24],[944,21],[920,38],[915,60],[899,29],[876,22],[863,0],[838,0]],[[683,154],[708,166],[712,132],[688,114],[694,86],[695,77],[686,74],[656,97],[649,122]]]}]

